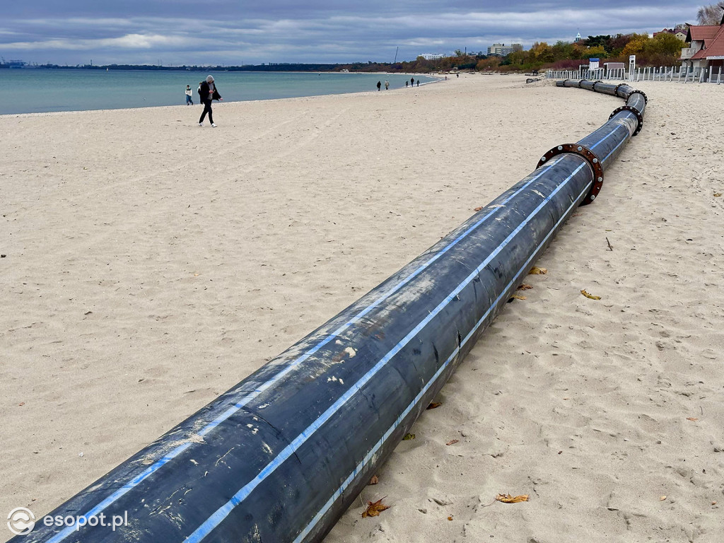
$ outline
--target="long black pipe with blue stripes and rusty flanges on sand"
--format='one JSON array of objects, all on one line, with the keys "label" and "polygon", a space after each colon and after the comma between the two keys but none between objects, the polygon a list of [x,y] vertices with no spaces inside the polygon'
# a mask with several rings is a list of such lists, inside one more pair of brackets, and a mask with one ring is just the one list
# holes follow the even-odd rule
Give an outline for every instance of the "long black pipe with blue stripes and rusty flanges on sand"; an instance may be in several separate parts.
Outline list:
[{"label": "long black pipe with blue stripes and rusty flanges on sand", "polygon": [[[17,543],[322,539],[640,128],[641,94],[591,88],[631,110],[552,149],[457,230]],[[128,523],[101,526],[115,518]]]}]

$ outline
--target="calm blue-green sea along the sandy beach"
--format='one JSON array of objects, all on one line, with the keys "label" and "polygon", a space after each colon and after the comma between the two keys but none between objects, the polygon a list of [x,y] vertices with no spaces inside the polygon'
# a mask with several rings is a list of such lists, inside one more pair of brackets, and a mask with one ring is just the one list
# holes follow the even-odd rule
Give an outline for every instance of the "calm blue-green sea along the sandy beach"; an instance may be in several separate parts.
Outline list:
[{"label": "calm blue-green sea along the sandy beach", "polygon": [[[198,83],[214,75],[224,101],[269,100],[358,93],[376,90],[377,81],[390,88],[405,86],[410,75],[285,72],[190,72],[153,70],[0,70],[0,114],[44,111],[85,111],[186,103],[190,85],[198,105]],[[414,76],[417,80],[418,76]],[[420,76],[420,84],[433,77]],[[382,87],[384,92],[384,86]]]}]

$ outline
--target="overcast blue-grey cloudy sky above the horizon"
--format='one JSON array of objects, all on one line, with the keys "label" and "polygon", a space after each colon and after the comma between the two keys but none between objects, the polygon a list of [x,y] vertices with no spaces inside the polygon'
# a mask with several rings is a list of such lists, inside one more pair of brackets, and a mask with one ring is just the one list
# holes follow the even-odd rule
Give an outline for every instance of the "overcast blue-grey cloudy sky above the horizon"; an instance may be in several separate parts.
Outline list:
[{"label": "overcast blue-grey cloudy sky above the horizon", "polygon": [[392,62],[492,43],[652,33],[687,0],[8,0],[0,55],[38,64]]}]

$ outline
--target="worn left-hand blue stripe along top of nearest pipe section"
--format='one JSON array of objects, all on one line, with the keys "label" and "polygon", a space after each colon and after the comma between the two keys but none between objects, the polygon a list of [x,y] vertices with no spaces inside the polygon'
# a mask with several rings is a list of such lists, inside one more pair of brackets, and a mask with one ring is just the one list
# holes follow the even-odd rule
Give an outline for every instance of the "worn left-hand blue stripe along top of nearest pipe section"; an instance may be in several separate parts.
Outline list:
[{"label": "worn left-hand blue stripe along top of nearest pipe section", "polygon": [[[542,176],[545,172],[547,172],[548,169],[550,169],[553,166],[553,164],[547,164],[546,167],[541,169],[541,171],[536,174],[534,177],[531,177],[531,180],[529,182],[526,182],[525,185],[523,185],[521,188],[516,190],[513,194],[508,196],[508,198],[505,198],[505,200],[502,202],[503,204],[508,203],[511,199],[515,198],[516,195],[521,193],[521,191],[528,188],[533,182],[538,180],[539,177]],[[228,408],[224,413],[219,415],[218,417],[214,418],[213,421],[209,422],[209,424],[206,424],[206,426],[203,427],[198,433],[200,437],[206,436],[206,434],[209,434],[211,430],[216,428],[216,426],[219,426],[219,424],[222,424],[227,418],[232,416],[234,413],[239,411],[241,408],[243,408],[244,405],[249,403],[251,400],[253,400],[255,397],[257,397],[261,392],[264,392],[264,390],[268,389],[272,385],[274,385],[279,379],[281,379],[283,376],[288,374],[292,369],[295,368],[295,366],[298,366],[300,363],[305,361],[307,358],[309,358],[311,355],[316,353],[319,349],[323,348],[324,345],[327,345],[330,341],[332,341],[335,337],[339,336],[342,332],[345,331],[348,327],[352,326],[357,322],[359,319],[361,319],[363,316],[368,314],[370,311],[372,311],[376,306],[379,305],[379,303],[382,303],[387,298],[390,298],[391,295],[393,295],[397,290],[400,290],[401,287],[406,285],[408,282],[410,282],[412,279],[417,277],[419,274],[421,274],[422,271],[424,271],[426,268],[428,268],[434,261],[436,261],[438,258],[440,258],[442,255],[447,253],[447,251],[450,251],[452,247],[460,243],[465,237],[471,234],[473,230],[475,230],[477,227],[479,227],[483,222],[487,221],[493,214],[497,213],[497,211],[500,209],[500,207],[496,207],[492,209],[488,214],[483,216],[478,222],[473,224],[468,230],[460,234],[458,237],[455,238],[455,240],[452,240],[448,245],[446,245],[442,250],[440,250],[438,253],[435,254],[432,258],[430,258],[429,261],[426,261],[425,264],[422,264],[418,269],[413,271],[412,274],[408,275],[408,277],[405,277],[399,284],[395,285],[390,292],[387,292],[386,294],[380,296],[377,300],[375,300],[373,303],[371,303],[369,306],[364,308],[360,313],[355,315],[353,319],[350,319],[348,322],[343,324],[341,327],[336,329],[334,332],[329,334],[328,337],[326,337],[324,340],[319,342],[317,345],[315,345],[313,348],[308,350],[306,353],[301,355],[299,358],[297,358],[295,361],[290,363],[289,366],[287,366],[284,370],[280,371],[278,374],[276,374],[274,377],[269,379],[269,381],[265,382],[264,384],[261,384],[260,387],[258,387],[254,392],[251,392],[251,394],[246,395],[243,397],[238,403],[235,403],[235,405],[232,405],[232,407]],[[169,460],[176,458],[178,455],[180,455],[183,451],[185,451],[188,448],[189,444],[180,445],[179,447],[176,447],[171,452],[169,452],[164,458],[161,460],[156,460],[156,463],[153,463],[151,466],[149,466],[145,471],[140,473],[138,476],[136,476],[134,479],[132,479],[130,482],[125,484],[122,488],[118,489],[116,492],[111,494],[109,497],[107,497],[105,500],[103,500],[101,503],[96,505],[95,508],[88,511],[88,513],[85,513],[85,516],[90,515],[96,515],[98,513],[101,513],[106,507],[111,505],[111,503],[116,502],[120,497],[122,497],[124,494],[126,494],[130,489],[133,487],[138,486],[141,482],[143,482],[148,476],[151,475],[151,473],[154,473],[158,468],[163,466],[165,463],[167,463]],[[101,507],[102,505],[102,507]],[[62,531],[59,531],[57,534],[55,534],[51,539],[49,539],[48,543],[59,543],[63,539],[65,539],[72,531],[75,531],[76,526],[75,523],[72,526],[68,526],[67,528],[63,529]]]}]

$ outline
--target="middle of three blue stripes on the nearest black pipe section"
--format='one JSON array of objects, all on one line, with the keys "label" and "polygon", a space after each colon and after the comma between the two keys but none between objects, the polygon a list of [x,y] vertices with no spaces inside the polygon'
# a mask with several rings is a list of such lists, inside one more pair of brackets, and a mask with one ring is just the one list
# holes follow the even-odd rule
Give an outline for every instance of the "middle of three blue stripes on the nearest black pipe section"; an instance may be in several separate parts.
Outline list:
[{"label": "middle of three blue stripes on the nearest black pipe section", "polygon": [[269,476],[271,473],[274,473],[274,471],[279,466],[281,466],[282,463],[284,463],[287,460],[287,458],[289,458],[291,455],[293,455],[295,453],[295,451],[301,445],[303,445],[303,443],[306,442],[306,440],[309,439],[309,437],[311,437],[311,435],[314,432],[316,432],[317,429],[319,429],[324,423],[326,423],[329,420],[329,418],[332,418],[334,413],[339,411],[339,409],[342,407],[342,405],[344,405],[345,403],[348,402],[350,397],[353,397],[353,395],[355,395],[355,393],[359,389],[361,389],[361,387],[363,387],[367,382],[369,382],[369,380],[380,369],[382,369],[387,364],[387,362],[389,362],[392,359],[392,357],[394,357],[397,353],[399,353],[400,350],[402,350],[405,347],[405,345],[407,345],[408,342],[410,342],[410,340],[413,339],[413,337],[416,337],[416,335],[422,329],[424,329],[424,327],[426,327],[426,325],[429,323],[429,321],[432,321],[432,319],[434,319],[434,317],[437,316],[437,314],[440,311],[442,311],[452,300],[454,300],[455,297],[458,295],[458,293],[461,290],[463,290],[463,288],[465,288],[475,277],[477,277],[477,275],[485,268],[485,266],[487,266],[490,263],[490,261],[492,261],[493,258],[495,258],[500,253],[500,251],[502,251],[505,248],[505,246],[508,245],[508,243],[510,243],[510,241],[512,241],[515,238],[515,236],[518,235],[519,232],[521,232],[521,230],[523,230],[523,227],[525,227],[526,224],[528,224],[531,221],[531,219],[533,219],[534,216],[536,216],[539,213],[539,211],[541,211],[541,209],[543,209],[544,206],[546,206],[546,204],[550,202],[551,198],[553,198],[553,196],[555,196],[559,190],[561,190],[563,187],[565,187],[565,185],[567,185],[568,182],[571,179],[573,179],[573,176],[576,175],[578,172],[580,172],[584,166],[588,166],[588,164],[586,162],[584,162],[583,164],[579,165],[575,170],[573,170],[571,175],[569,175],[565,179],[565,181],[563,181],[560,185],[558,185],[555,188],[555,190],[552,191],[552,193],[547,195],[543,199],[543,201],[539,204],[539,206],[537,206],[536,209],[534,209],[534,211],[532,211],[531,214],[529,214],[529,216],[527,216],[526,219],[523,222],[521,222],[521,224],[518,224],[518,227],[515,227],[515,230],[513,230],[513,232],[510,232],[508,237],[506,237],[505,240],[503,240],[500,243],[500,245],[498,245],[497,248],[495,248],[494,251],[492,251],[492,253],[490,253],[487,256],[487,258],[485,258],[485,260],[482,261],[481,264],[479,264],[479,266],[477,266],[476,269],[474,269],[471,272],[471,274],[469,274],[468,277],[466,277],[463,280],[463,282],[461,282],[457,287],[455,287],[455,289],[452,290],[452,292],[450,292],[450,294],[448,294],[445,297],[445,299],[442,300],[442,302],[440,302],[437,305],[436,308],[434,308],[424,319],[422,319],[422,321],[420,321],[416,327],[414,327],[410,332],[408,332],[408,334],[405,335],[405,337],[403,337],[403,339],[400,340],[400,342],[398,342],[397,345],[395,345],[395,347],[392,348],[392,350],[390,350],[371,369],[369,369],[369,371],[367,371],[366,374],[364,374],[355,384],[353,384],[352,387],[350,387],[348,389],[348,391],[345,392],[345,394],[340,396],[340,398],[336,402],[334,402],[332,405],[330,405],[329,408],[327,408],[327,411],[324,411],[324,413],[322,413],[318,418],[316,418],[316,420],[313,421],[313,423],[310,424],[301,434],[299,434],[297,437],[295,437],[295,439],[293,439],[292,442],[290,442],[290,444],[287,445],[287,447],[282,449],[279,452],[279,454],[276,457],[274,457],[274,460],[271,460],[271,462],[269,462],[264,467],[264,469],[262,469],[256,477],[254,477],[254,479],[252,479],[247,484],[245,484],[242,488],[240,488],[232,496],[231,500],[229,500],[224,505],[222,505],[222,507],[220,507],[209,518],[207,518],[206,521],[204,521],[201,524],[201,526],[199,526],[197,529],[195,529],[195,531],[193,531],[193,534],[190,534],[190,536],[188,536],[184,540],[184,542],[185,543],[198,543],[204,537],[209,535],[211,533],[211,531],[213,531],[214,528],[216,528],[216,526],[219,526],[219,524],[222,523],[224,518],[227,518],[227,516],[229,515],[229,513],[231,513],[233,508],[236,507],[236,505],[238,505],[240,502],[243,502],[243,500],[245,500],[245,498],[248,497],[248,495],[251,494],[251,492],[253,492],[253,490],[256,489],[256,487],[258,487],[258,485],[261,484],[261,482],[264,481],[264,479],[266,479],[267,476]]}]

